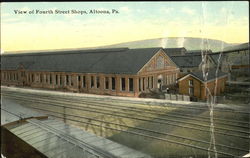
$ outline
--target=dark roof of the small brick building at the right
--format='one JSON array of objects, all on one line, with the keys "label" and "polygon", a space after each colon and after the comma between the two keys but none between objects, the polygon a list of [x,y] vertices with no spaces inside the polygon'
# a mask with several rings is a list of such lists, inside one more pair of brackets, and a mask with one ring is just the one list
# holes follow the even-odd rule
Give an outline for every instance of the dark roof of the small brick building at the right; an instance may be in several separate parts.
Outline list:
[{"label": "dark roof of the small brick building at the right", "polygon": [[188,76],[193,76],[194,78],[200,80],[201,82],[209,82],[209,81],[215,80],[216,78],[226,77],[227,73],[218,70],[218,73],[216,74],[216,69],[210,69],[208,71],[207,80],[205,81],[205,78],[203,77],[202,71],[189,72],[187,75],[180,78],[179,81],[183,80],[184,78],[186,78]]}]

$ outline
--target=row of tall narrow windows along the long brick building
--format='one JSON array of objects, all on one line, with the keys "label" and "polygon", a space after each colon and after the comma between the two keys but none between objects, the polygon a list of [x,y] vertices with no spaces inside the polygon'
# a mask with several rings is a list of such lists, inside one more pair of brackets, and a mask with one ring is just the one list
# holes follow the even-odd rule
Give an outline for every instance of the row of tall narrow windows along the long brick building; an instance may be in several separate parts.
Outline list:
[{"label": "row of tall narrow windows along the long brick building", "polygon": [[[86,76],[78,75],[77,82],[74,83],[73,77],[71,75],[60,75],[60,74],[35,74],[35,73],[26,73],[22,74],[25,76],[28,83],[46,83],[46,84],[55,84],[60,86],[74,86],[74,84],[78,85],[78,88],[86,88]],[[54,78],[53,78],[54,77]],[[18,80],[17,73],[4,72],[2,78],[5,80]],[[177,78],[177,74],[166,75],[164,78],[165,84],[172,84]],[[54,81],[53,81],[54,79]],[[90,76],[90,88],[100,88],[100,77],[99,76]],[[127,88],[126,88],[127,87]],[[139,78],[139,91],[145,91],[146,89],[154,88],[154,77],[140,77]],[[115,77],[104,77],[104,89],[106,90],[116,90],[116,78]],[[126,78],[120,78],[120,90],[121,91],[134,91],[134,79],[128,78],[126,82]]]}]

